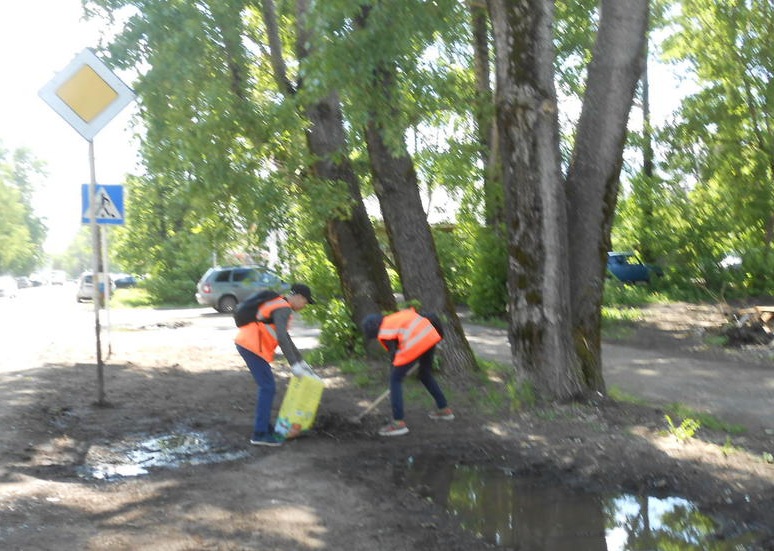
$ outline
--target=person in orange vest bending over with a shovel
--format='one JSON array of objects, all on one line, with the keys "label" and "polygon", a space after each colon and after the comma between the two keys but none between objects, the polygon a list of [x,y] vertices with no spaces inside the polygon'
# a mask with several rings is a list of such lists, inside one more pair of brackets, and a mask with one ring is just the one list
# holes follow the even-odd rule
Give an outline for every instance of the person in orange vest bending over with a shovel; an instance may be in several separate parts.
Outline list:
[{"label": "person in orange vest bending over with a shovel", "polygon": [[454,413],[432,372],[435,346],[443,339],[443,327],[436,316],[418,314],[413,308],[387,316],[370,314],[363,318],[362,329],[367,340],[377,339],[390,353],[393,366],[390,372],[393,420],[379,430],[380,436],[400,436],[409,431],[403,418],[403,379],[415,362],[419,362],[419,380],[437,406],[435,411],[430,412],[430,418],[444,421],[454,419]]}]

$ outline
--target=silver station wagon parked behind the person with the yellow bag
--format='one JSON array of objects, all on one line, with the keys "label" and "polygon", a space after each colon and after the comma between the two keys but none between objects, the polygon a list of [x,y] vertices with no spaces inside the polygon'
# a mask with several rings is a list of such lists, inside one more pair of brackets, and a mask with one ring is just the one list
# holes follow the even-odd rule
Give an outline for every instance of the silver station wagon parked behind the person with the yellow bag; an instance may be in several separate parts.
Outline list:
[{"label": "silver station wagon parked behind the person with the yellow bag", "polygon": [[221,313],[231,313],[236,305],[261,289],[279,293],[290,285],[275,272],[261,266],[225,266],[207,270],[196,284],[196,301]]}]

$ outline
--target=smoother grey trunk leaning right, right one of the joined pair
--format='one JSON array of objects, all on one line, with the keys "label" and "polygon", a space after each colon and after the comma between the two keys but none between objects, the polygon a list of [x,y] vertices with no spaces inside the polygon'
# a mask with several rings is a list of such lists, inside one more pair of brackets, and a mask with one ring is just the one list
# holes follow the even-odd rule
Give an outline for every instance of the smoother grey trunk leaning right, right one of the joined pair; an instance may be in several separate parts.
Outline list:
[{"label": "smoother grey trunk leaning right, right one of the joined pair", "polygon": [[572,323],[584,384],[604,392],[600,311],[626,124],[642,74],[648,0],[603,0],[567,175]]}]

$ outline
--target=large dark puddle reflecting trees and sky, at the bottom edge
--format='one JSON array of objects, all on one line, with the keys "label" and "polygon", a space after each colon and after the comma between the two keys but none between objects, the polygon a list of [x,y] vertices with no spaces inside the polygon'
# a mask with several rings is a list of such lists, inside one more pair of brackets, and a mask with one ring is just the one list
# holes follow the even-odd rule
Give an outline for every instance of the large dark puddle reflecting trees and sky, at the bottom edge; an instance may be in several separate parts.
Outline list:
[{"label": "large dark puddle reflecting trees and sky, at the bottom edge", "polygon": [[718,522],[681,497],[582,493],[501,469],[416,457],[394,476],[458,517],[464,529],[509,549],[743,551],[755,542],[754,534],[720,535]]}]

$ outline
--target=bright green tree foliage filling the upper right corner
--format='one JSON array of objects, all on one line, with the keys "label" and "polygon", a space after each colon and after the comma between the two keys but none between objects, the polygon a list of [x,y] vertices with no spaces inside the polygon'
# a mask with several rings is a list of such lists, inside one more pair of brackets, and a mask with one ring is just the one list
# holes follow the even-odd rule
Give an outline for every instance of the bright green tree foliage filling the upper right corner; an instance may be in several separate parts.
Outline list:
[{"label": "bright green tree foliage filling the upper right corner", "polygon": [[[674,294],[771,294],[774,14],[765,2],[685,0],[680,8],[664,11],[672,20],[663,57],[695,86],[654,134],[661,179],[633,180],[613,242],[665,261]],[[732,251],[742,270],[718,266]]]}]

